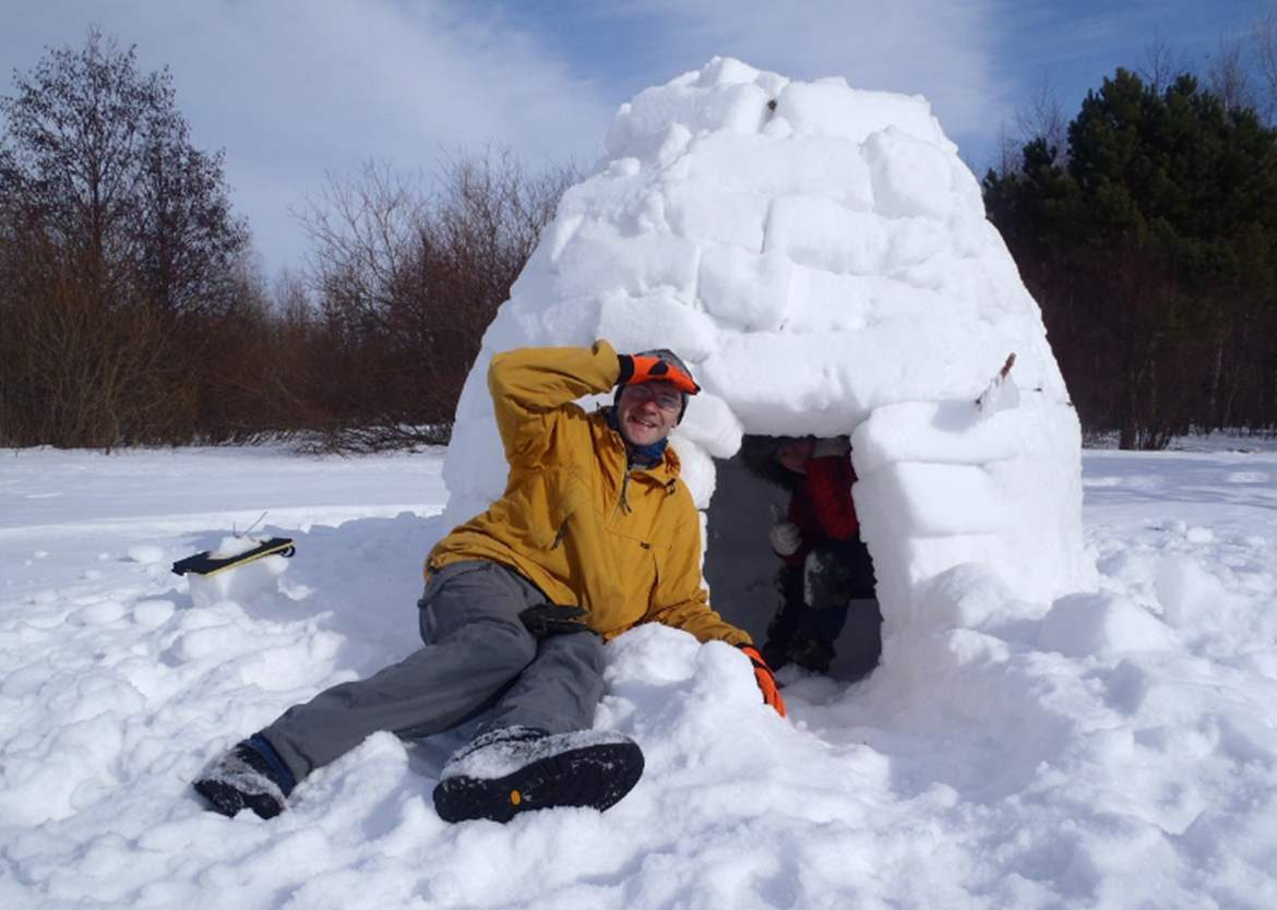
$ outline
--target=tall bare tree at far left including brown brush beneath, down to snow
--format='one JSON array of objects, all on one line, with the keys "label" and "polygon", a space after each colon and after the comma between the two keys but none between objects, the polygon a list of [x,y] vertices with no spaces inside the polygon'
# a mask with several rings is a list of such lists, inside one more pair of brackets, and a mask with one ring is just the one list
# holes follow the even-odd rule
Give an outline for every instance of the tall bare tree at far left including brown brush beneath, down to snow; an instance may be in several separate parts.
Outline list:
[{"label": "tall bare tree at far left including brown brush beneath, down to snow", "polygon": [[[0,440],[184,443],[255,277],[222,156],[97,28],[0,97]],[[252,317],[248,311],[245,317]],[[226,421],[221,421],[226,425]]]}]

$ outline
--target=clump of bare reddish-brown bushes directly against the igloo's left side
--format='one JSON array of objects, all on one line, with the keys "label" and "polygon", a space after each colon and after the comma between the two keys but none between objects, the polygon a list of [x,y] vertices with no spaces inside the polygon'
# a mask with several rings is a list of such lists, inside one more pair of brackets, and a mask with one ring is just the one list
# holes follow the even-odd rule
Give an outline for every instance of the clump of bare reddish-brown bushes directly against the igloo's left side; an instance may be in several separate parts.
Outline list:
[{"label": "clump of bare reddish-brown bushes directly against the igloo's left side", "polygon": [[484,331],[508,299],[575,166],[530,175],[506,148],[458,153],[427,191],[365,165],[300,216],[329,366],[328,444],[439,442]]}]

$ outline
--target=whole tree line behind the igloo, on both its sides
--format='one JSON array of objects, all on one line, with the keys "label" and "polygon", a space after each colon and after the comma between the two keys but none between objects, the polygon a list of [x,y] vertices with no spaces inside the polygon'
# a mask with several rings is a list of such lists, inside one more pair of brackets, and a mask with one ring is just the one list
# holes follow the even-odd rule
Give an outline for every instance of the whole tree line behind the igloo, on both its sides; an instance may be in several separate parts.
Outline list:
[{"label": "whole tree line behind the igloo, on both its sides", "polygon": [[[1205,84],[1156,48],[983,181],[1092,436],[1277,429],[1277,6]],[[1268,57],[1263,36],[1268,36]],[[1267,63],[1266,63],[1267,61]],[[1267,68],[1267,69],[1266,69]],[[0,444],[442,443],[480,338],[580,179],[506,148],[365,163],[268,290],[167,69],[91,29],[0,98]]]}]

